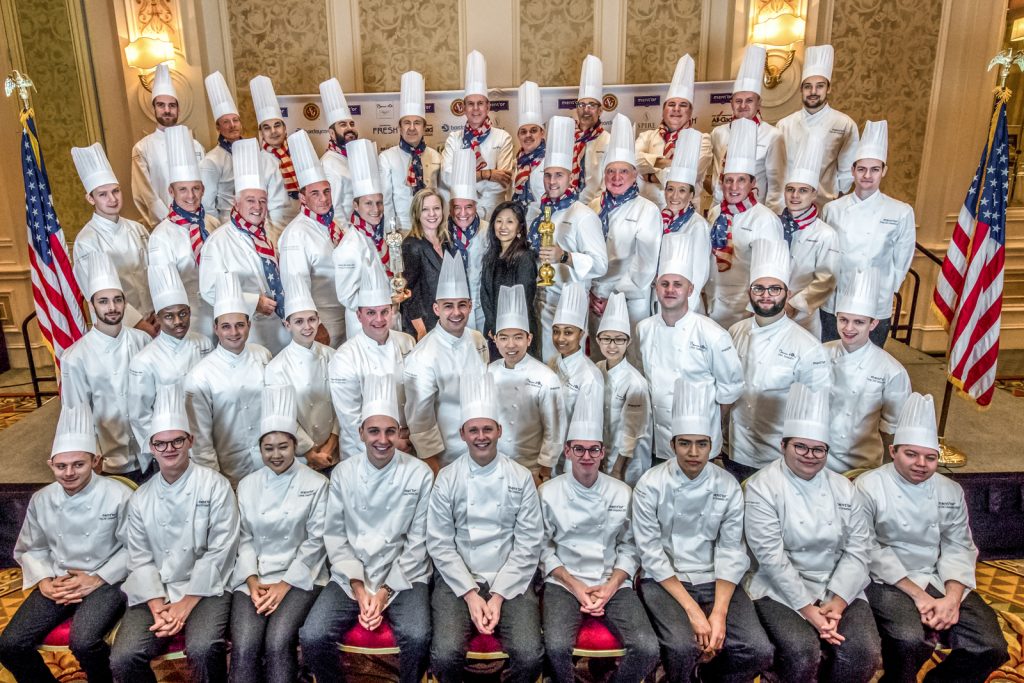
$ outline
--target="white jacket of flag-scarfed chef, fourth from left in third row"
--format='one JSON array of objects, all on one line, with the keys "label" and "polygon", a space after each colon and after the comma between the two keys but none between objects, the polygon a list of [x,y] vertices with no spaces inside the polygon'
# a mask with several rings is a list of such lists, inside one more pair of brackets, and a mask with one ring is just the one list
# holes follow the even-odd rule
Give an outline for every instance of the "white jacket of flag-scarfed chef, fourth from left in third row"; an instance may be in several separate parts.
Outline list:
[{"label": "white jacket of flag-scarfed chef, fourth from left in third row", "polygon": [[[339,226],[347,218],[335,218]],[[331,346],[345,341],[345,307],[338,301],[334,285],[334,243],[327,227],[299,212],[278,241],[281,276],[301,278],[309,287],[321,323],[331,335]],[[285,292],[286,301],[288,292]]]}]

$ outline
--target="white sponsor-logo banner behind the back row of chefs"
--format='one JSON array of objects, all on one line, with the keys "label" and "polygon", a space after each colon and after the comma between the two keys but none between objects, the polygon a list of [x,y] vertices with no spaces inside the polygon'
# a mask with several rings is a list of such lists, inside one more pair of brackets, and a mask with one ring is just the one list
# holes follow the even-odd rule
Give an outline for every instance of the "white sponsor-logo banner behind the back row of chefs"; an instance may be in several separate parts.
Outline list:
[{"label": "white sponsor-logo banner behind the back row of chefs", "polygon": [[[636,133],[656,128],[662,120],[662,103],[669,89],[667,83],[648,85],[609,85],[605,89],[602,123],[610,129],[611,119],[620,112],[630,118]],[[541,105],[547,121],[556,114],[572,116],[577,86],[541,88]],[[440,151],[452,131],[461,131],[463,118],[462,90],[426,93],[427,144]],[[693,92],[694,126],[711,132],[715,126],[732,118],[729,100],[732,81],[697,83]],[[348,108],[359,131],[359,137],[377,142],[380,151],[398,143],[398,93],[345,93]],[[518,89],[496,89],[490,94],[490,121],[504,128],[512,137],[518,128]],[[328,143],[328,123],[324,121],[319,95],[281,95],[282,118],[289,132],[304,129],[313,145],[323,154]]]}]

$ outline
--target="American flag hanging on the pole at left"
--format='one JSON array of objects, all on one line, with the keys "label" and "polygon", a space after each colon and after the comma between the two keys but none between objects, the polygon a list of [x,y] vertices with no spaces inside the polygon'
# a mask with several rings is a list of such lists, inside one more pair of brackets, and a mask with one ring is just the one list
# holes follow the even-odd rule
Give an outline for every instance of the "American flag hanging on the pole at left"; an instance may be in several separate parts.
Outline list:
[{"label": "American flag hanging on the pole at left", "polygon": [[59,367],[60,354],[85,334],[85,315],[82,290],[72,272],[63,230],[53,210],[50,181],[32,110],[22,114],[22,171],[32,296],[43,340]]}]

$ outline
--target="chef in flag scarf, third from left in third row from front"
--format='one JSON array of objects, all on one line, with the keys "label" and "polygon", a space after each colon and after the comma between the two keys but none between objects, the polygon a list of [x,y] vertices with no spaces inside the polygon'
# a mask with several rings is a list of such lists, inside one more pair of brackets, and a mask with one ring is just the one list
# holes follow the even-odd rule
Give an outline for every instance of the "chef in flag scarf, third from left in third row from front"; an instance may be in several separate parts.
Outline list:
[{"label": "chef in flag scarf, third from left in third row from front", "polygon": [[256,140],[232,145],[234,208],[231,218],[207,238],[200,259],[200,294],[216,308],[216,286],[223,273],[234,273],[249,304],[252,341],[271,354],[288,344],[285,290],[281,280],[279,252],[267,233],[266,190],[260,180]]}]

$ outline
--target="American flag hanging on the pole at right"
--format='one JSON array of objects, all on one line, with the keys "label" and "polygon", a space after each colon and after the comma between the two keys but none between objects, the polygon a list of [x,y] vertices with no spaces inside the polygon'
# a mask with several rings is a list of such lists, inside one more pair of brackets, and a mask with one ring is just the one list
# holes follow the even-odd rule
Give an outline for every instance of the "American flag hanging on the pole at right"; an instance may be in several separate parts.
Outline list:
[{"label": "American flag hanging on the pole at right", "polygon": [[948,379],[981,408],[992,401],[999,353],[1009,146],[1006,99],[1000,93],[933,299],[935,312],[950,331]]}]

